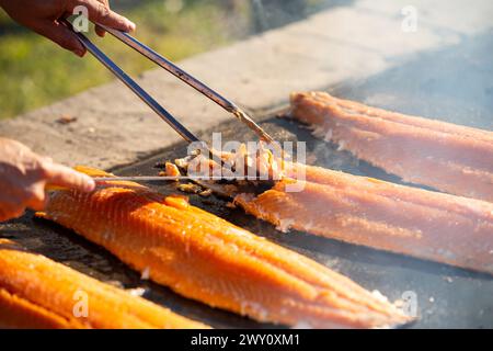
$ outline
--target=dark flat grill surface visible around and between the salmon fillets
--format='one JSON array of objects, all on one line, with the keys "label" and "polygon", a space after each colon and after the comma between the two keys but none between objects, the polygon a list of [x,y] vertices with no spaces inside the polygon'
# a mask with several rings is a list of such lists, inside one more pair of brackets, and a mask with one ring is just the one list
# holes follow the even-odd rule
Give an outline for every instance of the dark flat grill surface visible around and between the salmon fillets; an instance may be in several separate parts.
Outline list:
[{"label": "dark flat grill surface visible around and between the salmon fillets", "polygon": [[[305,12],[305,8],[297,5],[301,7],[302,2],[298,0],[255,0],[252,2],[253,11],[259,12],[256,19],[259,31],[270,26],[266,20],[270,20],[273,25],[276,24],[275,19],[273,21],[272,16],[268,18],[272,12],[268,10],[280,7],[279,3],[293,11],[293,18]],[[287,2],[289,5],[286,4]],[[332,5],[347,4],[348,2],[352,1],[330,1]],[[364,9],[360,11],[363,12]],[[444,29],[440,29],[440,25],[434,25],[437,26],[437,31],[444,31],[447,34]],[[333,30],[336,30],[336,25]],[[112,33],[111,30],[108,32]],[[113,32],[114,35],[115,33]],[[457,33],[450,32],[449,34]],[[445,34],[444,36],[446,36]],[[310,35],[309,32],[306,35]],[[414,57],[404,58],[409,61],[400,61],[402,66],[391,68],[364,81],[345,81],[341,86],[330,87],[329,90],[335,97],[362,101],[388,110],[435,118],[446,116],[447,121],[451,123],[493,131],[491,114],[493,111],[492,38],[491,33],[479,36],[471,35],[469,38],[463,37],[460,46],[457,47],[416,52]],[[128,37],[126,39],[128,41]],[[330,36],[328,36],[329,39]],[[349,39],[347,43],[353,43],[352,38]],[[365,47],[364,44],[360,42],[352,45]],[[365,53],[367,54],[362,55],[372,54],[369,50],[365,50]],[[257,55],[262,54],[257,53]],[[307,57],[311,59],[311,56]],[[335,60],[344,58],[340,55],[334,57],[328,55],[324,59],[326,59],[326,63],[324,61],[326,66],[331,67]],[[397,60],[398,58],[392,59]],[[297,63],[301,63],[301,60],[297,60]],[[309,60],[306,64],[311,65]],[[351,65],[347,66],[351,67]],[[291,71],[298,71],[298,67],[290,68]],[[305,70],[300,69],[299,71],[303,72]],[[284,77],[276,78],[286,79]],[[312,79],[312,77],[297,78],[300,81]],[[403,183],[398,177],[387,174],[382,170],[358,160],[347,151],[339,150],[336,145],[313,138],[311,132],[298,123],[288,118],[279,118],[286,114],[286,106],[254,112],[260,126],[274,139],[307,141],[307,163],[309,165]],[[167,126],[163,125],[163,127]],[[238,140],[240,136],[242,137],[240,141],[257,138],[246,125],[234,120],[202,133],[198,138],[207,141],[213,132],[220,132],[223,141]],[[145,136],[139,135],[138,137]],[[156,176],[158,173],[158,169],[154,168],[157,162],[174,160],[185,155],[186,143],[179,143],[159,154],[140,159],[136,163],[117,167],[111,171],[117,176]],[[179,183],[173,181],[146,184],[164,194],[180,193],[176,189]],[[406,185],[417,186],[415,184]],[[405,295],[415,296],[419,319],[409,326],[410,328],[493,328],[493,275],[348,245],[296,230],[283,234],[273,225],[246,215],[241,208],[226,206],[228,202],[226,199],[216,195],[203,197],[188,194],[188,196],[192,204],[298,251],[351,278],[369,291],[381,292],[391,301],[402,299]],[[0,238],[14,239],[34,252],[62,262],[100,281],[128,290],[141,287],[145,291],[145,298],[216,328],[275,327],[210,308],[202,303],[182,297],[168,287],[141,280],[139,273],[133,271],[104,248],[55,223],[34,218],[32,212],[27,212],[19,219],[0,223]]]}]

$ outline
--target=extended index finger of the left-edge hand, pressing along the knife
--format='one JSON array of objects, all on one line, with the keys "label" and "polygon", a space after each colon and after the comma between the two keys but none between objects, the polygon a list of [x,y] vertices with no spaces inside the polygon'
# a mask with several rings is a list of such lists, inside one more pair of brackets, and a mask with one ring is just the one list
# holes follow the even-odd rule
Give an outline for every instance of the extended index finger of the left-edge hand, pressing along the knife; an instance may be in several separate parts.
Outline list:
[{"label": "extended index finger of the left-edge hand, pressing along the knife", "polygon": [[45,176],[49,185],[70,188],[83,192],[93,191],[95,188],[94,180],[91,177],[57,163],[45,166]]}]

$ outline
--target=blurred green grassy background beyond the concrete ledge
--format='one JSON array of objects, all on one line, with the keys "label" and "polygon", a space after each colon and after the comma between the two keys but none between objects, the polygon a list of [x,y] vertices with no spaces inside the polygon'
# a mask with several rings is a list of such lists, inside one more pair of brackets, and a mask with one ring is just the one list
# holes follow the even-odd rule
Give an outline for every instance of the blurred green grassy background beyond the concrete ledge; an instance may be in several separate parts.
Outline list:
[{"label": "blurred green grassy background beyond the concrete ledge", "polygon": [[[227,45],[351,0],[112,0],[135,35],[172,60]],[[94,37],[94,35],[91,35]],[[96,39],[131,75],[152,64],[107,36]],[[113,77],[12,22],[0,9],[0,118],[104,83]]]}]

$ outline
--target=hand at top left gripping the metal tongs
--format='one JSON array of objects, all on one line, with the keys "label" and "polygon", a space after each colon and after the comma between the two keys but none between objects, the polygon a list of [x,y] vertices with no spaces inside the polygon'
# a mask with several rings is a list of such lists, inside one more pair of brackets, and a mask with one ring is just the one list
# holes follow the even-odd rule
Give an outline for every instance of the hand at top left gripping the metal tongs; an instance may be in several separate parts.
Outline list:
[{"label": "hand at top left gripping the metal tongs", "polygon": [[[89,20],[93,22],[125,32],[135,30],[134,23],[110,10],[108,0],[0,0],[0,7],[14,21],[82,57],[85,48],[77,36],[58,21],[73,14],[73,9],[79,5],[88,9]],[[101,27],[96,27],[96,33],[104,35]]]}]

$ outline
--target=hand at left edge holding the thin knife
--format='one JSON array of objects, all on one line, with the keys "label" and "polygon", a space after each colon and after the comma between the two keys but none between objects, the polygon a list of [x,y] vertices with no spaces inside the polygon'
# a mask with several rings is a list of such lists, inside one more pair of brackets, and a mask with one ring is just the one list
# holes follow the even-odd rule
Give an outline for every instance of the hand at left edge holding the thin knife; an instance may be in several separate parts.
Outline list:
[{"label": "hand at left edge holding the thin knife", "polygon": [[48,184],[80,191],[94,189],[90,177],[54,163],[21,143],[0,138],[0,220],[21,216],[26,207],[43,210]]}]

